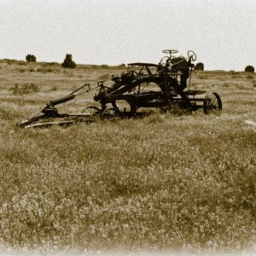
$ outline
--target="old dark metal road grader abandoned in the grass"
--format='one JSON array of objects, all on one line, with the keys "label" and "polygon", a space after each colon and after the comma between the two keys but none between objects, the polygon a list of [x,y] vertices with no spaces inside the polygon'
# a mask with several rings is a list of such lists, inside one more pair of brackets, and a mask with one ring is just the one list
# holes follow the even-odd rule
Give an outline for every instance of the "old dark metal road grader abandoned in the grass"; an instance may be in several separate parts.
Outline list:
[{"label": "old dark metal road grader abandoned in the grass", "polygon": [[[165,49],[163,53],[165,56],[158,64],[130,63],[125,73],[113,75],[108,81],[84,84],[67,96],[50,101],[38,114],[18,125],[21,128],[71,125],[94,121],[96,116],[125,119],[139,116],[144,108],[160,108],[164,112],[172,112],[173,108],[193,112],[201,108],[206,114],[219,113],[222,102],[218,93],[190,89],[195,53],[189,50],[187,57],[176,56],[176,49]],[[87,106],[83,113],[59,113],[55,108],[90,90],[96,90],[94,101],[98,106]]]}]

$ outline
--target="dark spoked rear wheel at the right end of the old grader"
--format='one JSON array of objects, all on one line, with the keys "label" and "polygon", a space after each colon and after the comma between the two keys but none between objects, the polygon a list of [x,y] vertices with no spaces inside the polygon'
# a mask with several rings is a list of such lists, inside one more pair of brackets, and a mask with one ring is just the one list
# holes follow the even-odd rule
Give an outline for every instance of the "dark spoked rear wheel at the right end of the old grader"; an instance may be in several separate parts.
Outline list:
[{"label": "dark spoked rear wheel at the right end of the old grader", "polygon": [[222,102],[220,96],[216,92],[212,92],[207,95],[203,102],[203,112],[204,113],[219,113],[222,110]]}]

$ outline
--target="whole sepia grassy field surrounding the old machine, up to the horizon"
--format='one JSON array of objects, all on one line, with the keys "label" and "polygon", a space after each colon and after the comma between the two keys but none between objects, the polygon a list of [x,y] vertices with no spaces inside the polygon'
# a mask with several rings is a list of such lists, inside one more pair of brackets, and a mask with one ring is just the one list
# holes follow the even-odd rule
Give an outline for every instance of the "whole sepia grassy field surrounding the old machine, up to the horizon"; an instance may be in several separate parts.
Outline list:
[{"label": "whole sepia grassy field surrounding the old machine, up to the horizon", "polygon": [[[197,72],[221,115],[16,127],[124,67],[0,61],[0,243],[78,250],[242,250],[256,242],[256,75]],[[94,93],[61,106],[79,112]],[[10,132],[15,131],[15,132]]]}]

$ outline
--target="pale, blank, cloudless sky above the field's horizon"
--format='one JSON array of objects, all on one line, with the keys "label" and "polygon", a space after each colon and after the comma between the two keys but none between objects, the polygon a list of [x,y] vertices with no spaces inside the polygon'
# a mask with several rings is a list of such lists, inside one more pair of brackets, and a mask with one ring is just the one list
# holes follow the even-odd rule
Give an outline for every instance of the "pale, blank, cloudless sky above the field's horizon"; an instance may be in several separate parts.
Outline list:
[{"label": "pale, blank, cloudless sky above the field's horizon", "polygon": [[158,63],[189,49],[206,70],[256,67],[256,0],[0,0],[0,59]]}]

